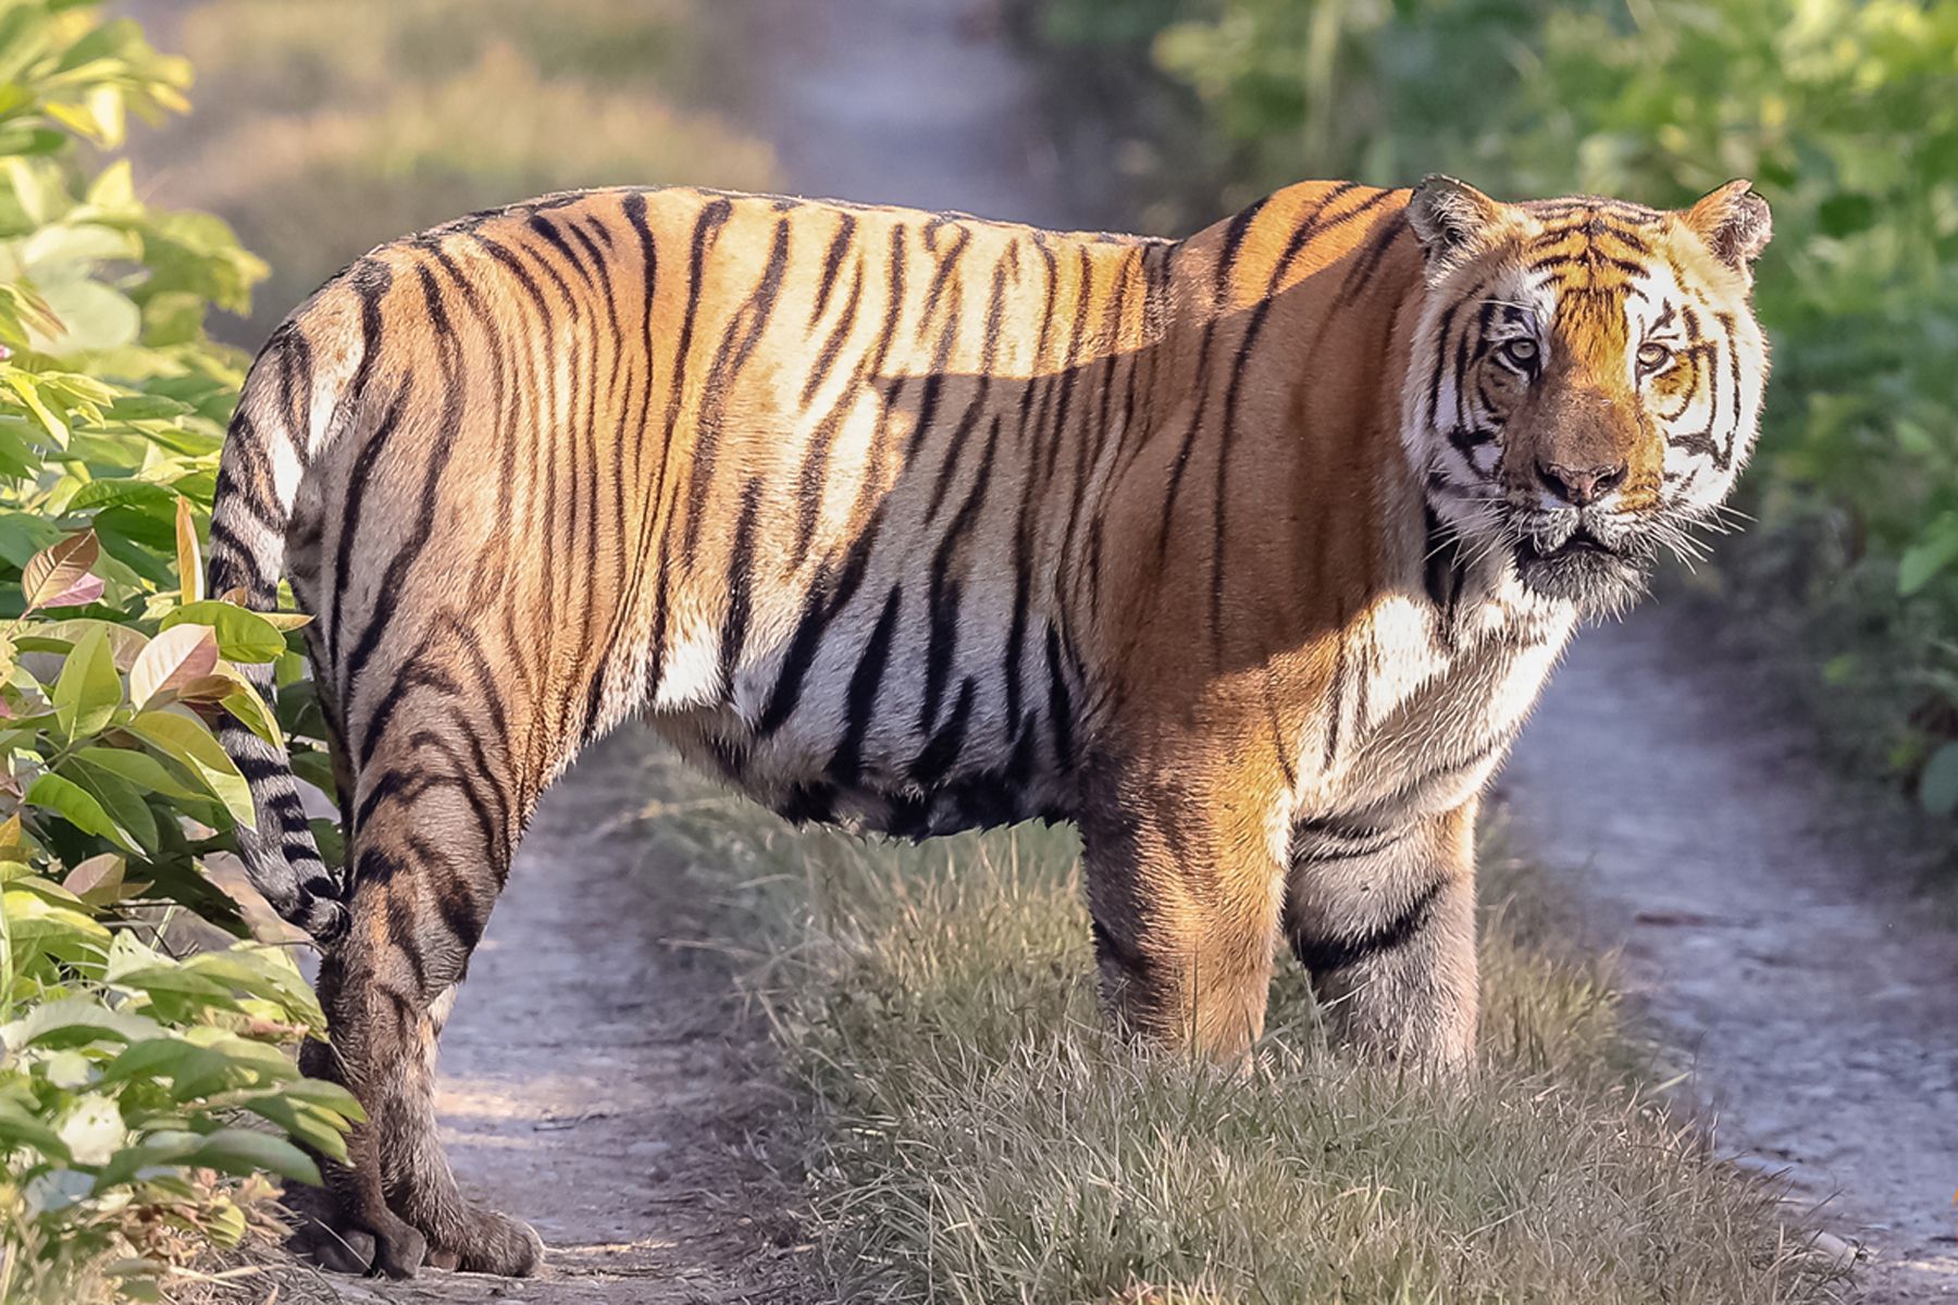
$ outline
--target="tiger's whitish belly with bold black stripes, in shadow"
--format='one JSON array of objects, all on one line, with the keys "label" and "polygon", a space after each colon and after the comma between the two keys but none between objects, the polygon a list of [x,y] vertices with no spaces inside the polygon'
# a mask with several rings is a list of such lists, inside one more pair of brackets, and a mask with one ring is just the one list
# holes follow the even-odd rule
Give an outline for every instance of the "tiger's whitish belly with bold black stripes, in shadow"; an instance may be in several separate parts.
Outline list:
[{"label": "tiger's whitish belly with bold black stripes, in shadow", "polygon": [[832,616],[807,595],[758,603],[732,669],[670,663],[654,728],[797,824],[930,837],[1071,818],[1081,691],[1055,626],[973,585],[948,640],[895,562]]}]

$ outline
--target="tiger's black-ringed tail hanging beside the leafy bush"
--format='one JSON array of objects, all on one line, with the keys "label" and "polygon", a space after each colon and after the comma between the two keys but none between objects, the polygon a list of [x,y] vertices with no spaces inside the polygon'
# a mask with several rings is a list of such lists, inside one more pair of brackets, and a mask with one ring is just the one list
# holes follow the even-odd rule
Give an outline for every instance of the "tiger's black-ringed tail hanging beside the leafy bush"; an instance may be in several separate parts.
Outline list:
[{"label": "tiger's black-ringed tail hanging beside the leafy bush", "polygon": [[[245,607],[258,612],[278,607],[300,477],[350,407],[331,378],[315,376],[311,358],[298,321],[272,335],[245,380],[217,464],[206,593],[243,589]],[[274,667],[239,669],[270,702]],[[256,812],[253,828],[237,830],[247,878],[280,918],[333,943],[347,931],[347,880],[319,855],[286,745],[266,743],[229,714],[217,742],[251,787]]]}]

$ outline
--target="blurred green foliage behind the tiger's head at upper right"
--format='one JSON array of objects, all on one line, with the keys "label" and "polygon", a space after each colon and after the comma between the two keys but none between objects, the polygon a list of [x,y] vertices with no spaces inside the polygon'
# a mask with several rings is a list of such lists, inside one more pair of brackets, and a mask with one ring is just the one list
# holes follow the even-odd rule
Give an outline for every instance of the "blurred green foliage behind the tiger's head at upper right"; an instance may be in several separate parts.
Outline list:
[{"label": "blurred green foliage behind the tiger's head at upper right", "polygon": [[[1057,0],[1065,59],[1200,121],[1159,221],[1308,176],[1774,205],[1760,524],[1729,599],[1799,634],[1858,761],[1958,806],[1958,0]],[[1175,180],[1167,180],[1175,178]],[[1192,180],[1194,178],[1194,180]]]}]

